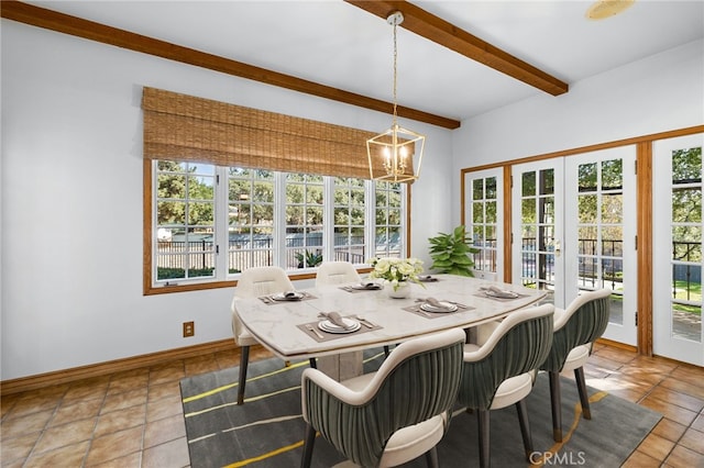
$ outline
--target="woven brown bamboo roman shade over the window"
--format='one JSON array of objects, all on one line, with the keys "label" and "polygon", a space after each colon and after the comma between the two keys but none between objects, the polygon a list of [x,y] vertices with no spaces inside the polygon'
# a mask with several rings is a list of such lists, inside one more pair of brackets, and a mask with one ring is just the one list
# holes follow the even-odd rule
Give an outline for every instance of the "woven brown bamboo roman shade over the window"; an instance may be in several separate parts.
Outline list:
[{"label": "woven brown bamboo roman shade over the window", "polygon": [[146,159],[370,178],[371,132],[146,87],[142,109]]}]

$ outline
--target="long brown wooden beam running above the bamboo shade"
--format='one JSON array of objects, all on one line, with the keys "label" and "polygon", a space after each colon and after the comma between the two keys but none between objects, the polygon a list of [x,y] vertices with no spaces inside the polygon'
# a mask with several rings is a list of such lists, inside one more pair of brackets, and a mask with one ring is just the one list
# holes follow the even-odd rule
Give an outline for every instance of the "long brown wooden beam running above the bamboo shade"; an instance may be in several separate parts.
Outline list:
[{"label": "long brown wooden beam running above the bamboo shade", "polygon": [[[2,1],[2,18],[33,26],[44,27],[77,37],[97,41],[134,52],[154,55],[170,60],[207,68],[215,71],[290,89],[307,94],[326,98],[345,104],[371,109],[391,114],[393,103],[370,98],[354,92],[332,88],[290,75],[284,75],[265,68],[255,67],[242,62],[232,60],[218,55],[208,54],[194,48],[184,47],[130,31],[120,30],[69,14],[59,13],[45,8],[20,1]],[[418,122],[426,122],[444,129],[458,129],[460,121],[428,112],[399,105],[397,114]]]}]

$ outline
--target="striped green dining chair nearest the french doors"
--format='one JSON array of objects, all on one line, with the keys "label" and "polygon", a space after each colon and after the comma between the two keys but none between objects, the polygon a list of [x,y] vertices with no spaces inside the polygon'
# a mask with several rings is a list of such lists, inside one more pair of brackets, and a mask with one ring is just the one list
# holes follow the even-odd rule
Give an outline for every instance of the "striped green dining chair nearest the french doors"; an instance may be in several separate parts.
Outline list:
[{"label": "striped green dining chair nearest the french doors", "polygon": [[592,419],[583,366],[592,354],[594,342],[608,325],[609,296],[608,289],[588,291],[578,296],[565,310],[556,309],[552,348],[540,366],[550,375],[552,437],[556,442],[562,442],[560,372],[574,370],[582,415],[585,420]]}]

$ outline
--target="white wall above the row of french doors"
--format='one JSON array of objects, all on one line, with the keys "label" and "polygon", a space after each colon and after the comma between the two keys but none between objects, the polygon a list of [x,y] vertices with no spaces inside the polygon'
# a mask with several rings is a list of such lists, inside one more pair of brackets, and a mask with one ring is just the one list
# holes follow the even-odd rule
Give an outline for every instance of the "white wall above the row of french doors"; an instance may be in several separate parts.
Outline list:
[{"label": "white wall above the row of french doors", "polygon": [[[704,124],[704,42],[628,64],[462,122],[453,174],[524,158]],[[453,187],[453,220],[460,185]]]}]

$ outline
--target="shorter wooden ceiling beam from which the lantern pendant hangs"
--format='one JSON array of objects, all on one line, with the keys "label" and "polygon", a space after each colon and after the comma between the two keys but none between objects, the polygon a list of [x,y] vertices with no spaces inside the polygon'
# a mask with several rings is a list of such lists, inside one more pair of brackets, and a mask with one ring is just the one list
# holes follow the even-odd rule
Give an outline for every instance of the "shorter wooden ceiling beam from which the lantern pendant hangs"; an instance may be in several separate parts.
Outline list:
[{"label": "shorter wooden ceiling beam from which the lantern pendant hangs", "polygon": [[552,96],[560,96],[569,90],[568,83],[558,78],[405,0],[344,1],[384,20],[391,13],[400,11],[404,14],[404,22],[400,26],[405,30]]}]

